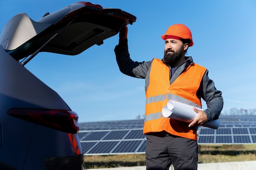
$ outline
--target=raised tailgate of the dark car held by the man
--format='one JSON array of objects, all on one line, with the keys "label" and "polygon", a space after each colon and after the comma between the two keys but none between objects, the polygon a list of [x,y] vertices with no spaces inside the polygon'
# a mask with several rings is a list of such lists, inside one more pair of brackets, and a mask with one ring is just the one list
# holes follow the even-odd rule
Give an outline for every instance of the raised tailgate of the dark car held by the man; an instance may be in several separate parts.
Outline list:
[{"label": "raised tailgate of the dark car held by the man", "polygon": [[135,21],[134,15],[121,9],[77,2],[37,21],[26,13],[15,15],[4,27],[0,44],[16,60],[41,51],[77,55]]}]

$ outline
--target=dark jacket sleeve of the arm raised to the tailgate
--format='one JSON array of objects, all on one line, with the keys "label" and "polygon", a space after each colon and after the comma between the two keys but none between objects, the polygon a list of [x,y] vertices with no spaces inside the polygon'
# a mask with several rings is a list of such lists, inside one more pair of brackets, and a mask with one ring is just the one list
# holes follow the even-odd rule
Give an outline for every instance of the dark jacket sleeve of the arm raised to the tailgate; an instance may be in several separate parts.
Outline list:
[{"label": "dark jacket sleeve of the arm raised to the tailgate", "polygon": [[130,59],[128,51],[128,40],[119,39],[119,44],[115,47],[117,64],[122,73],[136,78],[145,78],[151,61],[134,62]]}]

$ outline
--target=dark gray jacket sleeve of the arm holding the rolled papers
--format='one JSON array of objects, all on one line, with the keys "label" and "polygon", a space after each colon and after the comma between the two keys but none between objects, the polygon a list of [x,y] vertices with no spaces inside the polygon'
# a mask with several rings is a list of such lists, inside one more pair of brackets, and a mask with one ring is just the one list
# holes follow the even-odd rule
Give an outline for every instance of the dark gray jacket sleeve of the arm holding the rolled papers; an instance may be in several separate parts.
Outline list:
[{"label": "dark gray jacket sleeve of the arm holding the rolled papers", "polygon": [[207,104],[207,109],[204,113],[207,115],[208,121],[218,119],[223,108],[222,92],[218,91],[214,82],[208,77],[208,70],[204,73],[200,84],[200,95]]}]

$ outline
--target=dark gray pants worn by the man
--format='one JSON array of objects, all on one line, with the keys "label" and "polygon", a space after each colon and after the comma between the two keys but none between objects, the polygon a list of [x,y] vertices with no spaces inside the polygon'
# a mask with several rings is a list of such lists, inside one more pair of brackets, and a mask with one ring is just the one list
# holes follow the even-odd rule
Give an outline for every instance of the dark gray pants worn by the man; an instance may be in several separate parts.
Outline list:
[{"label": "dark gray pants worn by the man", "polygon": [[197,170],[197,141],[156,132],[146,135],[146,169],[168,170],[173,163],[175,170]]}]

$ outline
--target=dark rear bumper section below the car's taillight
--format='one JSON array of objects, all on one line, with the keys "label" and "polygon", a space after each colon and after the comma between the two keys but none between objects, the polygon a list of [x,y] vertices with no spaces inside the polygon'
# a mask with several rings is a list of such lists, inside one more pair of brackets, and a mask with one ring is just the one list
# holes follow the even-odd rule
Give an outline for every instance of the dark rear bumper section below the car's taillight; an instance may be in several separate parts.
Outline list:
[{"label": "dark rear bumper section below the car's taillight", "polygon": [[[78,143],[79,153],[71,145],[68,135],[73,135]],[[42,142],[43,141],[43,142]],[[38,153],[38,148],[40,153]],[[34,155],[37,155],[36,157]],[[23,170],[42,167],[42,170],[63,170],[73,166],[70,170],[81,170],[83,166],[83,151],[77,134],[67,134],[38,125],[27,152],[27,159]],[[79,163],[80,162],[80,163]]]}]

